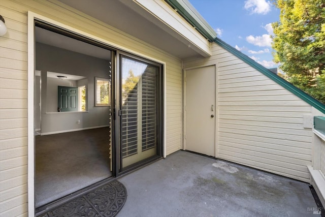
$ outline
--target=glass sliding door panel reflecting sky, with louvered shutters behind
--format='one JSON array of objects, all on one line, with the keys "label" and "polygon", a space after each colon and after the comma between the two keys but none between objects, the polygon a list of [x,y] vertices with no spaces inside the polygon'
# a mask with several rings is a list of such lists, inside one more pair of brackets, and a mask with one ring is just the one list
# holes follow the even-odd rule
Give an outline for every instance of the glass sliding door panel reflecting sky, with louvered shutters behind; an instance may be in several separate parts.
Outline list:
[{"label": "glass sliding door panel reflecting sky, with louvered shutters behind", "polygon": [[160,68],[121,56],[122,168],[157,156]]}]

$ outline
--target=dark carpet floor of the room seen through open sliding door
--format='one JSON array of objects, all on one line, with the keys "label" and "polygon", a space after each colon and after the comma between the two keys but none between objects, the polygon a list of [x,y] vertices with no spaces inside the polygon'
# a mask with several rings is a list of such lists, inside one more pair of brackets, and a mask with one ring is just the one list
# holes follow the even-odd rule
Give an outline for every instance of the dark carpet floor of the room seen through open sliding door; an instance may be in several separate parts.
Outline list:
[{"label": "dark carpet floor of the room seen through open sliding door", "polygon": [[109,128],[35,137],[35,206],[111,176]]}]

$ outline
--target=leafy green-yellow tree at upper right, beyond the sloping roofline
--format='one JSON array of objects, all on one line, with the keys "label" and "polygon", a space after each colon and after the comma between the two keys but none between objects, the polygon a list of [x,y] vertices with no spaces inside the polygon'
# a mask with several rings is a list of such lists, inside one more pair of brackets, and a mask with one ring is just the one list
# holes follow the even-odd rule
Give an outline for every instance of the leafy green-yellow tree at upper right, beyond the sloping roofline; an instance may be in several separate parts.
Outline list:
[{"label": "leafy green-yellow tree at upper right, beyond the sloping roofline", "polygon": [[325,0],[277,0],[274,61],[286,79],[325,104]]}]

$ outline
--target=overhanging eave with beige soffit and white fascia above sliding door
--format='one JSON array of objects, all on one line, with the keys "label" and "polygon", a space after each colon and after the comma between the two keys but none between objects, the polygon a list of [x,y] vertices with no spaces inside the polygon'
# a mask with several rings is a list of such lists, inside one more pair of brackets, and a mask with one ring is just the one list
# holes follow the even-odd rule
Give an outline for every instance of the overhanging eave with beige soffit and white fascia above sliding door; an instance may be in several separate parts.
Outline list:
[{"label": "overhanging eave with beige soffit and white fascia above sliding door", "polygon": [[[181,59],[211,54],[209,42],[164,1],[150,0],[148,1],[151,2],[150,8],[129,0],[58,1]],[[160,11],[162,14],[159,18],[154,11],[151,11],[155,5],[157,8],[160,7],[159,5],[164,5],[168,11]],[[173,23],[166,22],[169,18],[175,20],[175,16],[178,18],[178,24],[183,25],[178,27],[187,28],[188,34],[184,31],[178,32],[178,28],[173,27]],[[187,35],[191,38],[189,39]],[[193,40],[194,36],[197,40]]]}]

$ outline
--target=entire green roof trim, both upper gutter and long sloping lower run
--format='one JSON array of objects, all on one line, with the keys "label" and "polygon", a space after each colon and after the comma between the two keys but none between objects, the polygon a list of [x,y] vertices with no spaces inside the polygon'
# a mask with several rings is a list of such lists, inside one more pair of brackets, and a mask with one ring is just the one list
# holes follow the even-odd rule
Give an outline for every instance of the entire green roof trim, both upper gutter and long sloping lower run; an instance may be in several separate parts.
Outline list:
[{"label": "entire green roof trim, both upper gutter and long sloping lower run", "polygon": [[256,69],[257,71],[263,73],[276,83],[283,86],[285,89],[292,92],[294,95],[313,106],[322,113],[325,113],[325,105],[306,94],[301,89],[297,88],[293,84],[289,83],[285,79],[281,78],[278,75],[275,75],[269,69],[264,66],[256,63],[253,59],[243,54],[242,52],[236,50],[234,47],[225,43],[224,41],[217,38],[217,35],[213,28],[205,21],[205,19],[200,15],[200,13],[187,1],[187,0],[165,0],[171,7],[173,7],[177,12],[193,27],[195,27],[198,32],[204,36],[210,42],[215,42],[224,49],[228,50],[238,58],[242,59],[245,63]]}]

